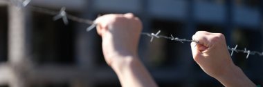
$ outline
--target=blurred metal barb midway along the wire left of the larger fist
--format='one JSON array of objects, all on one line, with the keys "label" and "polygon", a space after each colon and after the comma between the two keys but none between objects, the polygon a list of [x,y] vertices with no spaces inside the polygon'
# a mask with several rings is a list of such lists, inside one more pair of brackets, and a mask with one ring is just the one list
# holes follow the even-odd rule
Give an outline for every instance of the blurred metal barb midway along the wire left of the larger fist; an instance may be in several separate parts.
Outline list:
[{"label": "blurred metal barb midway along the wire left of the larger fist", "polygon": [[66,8],[65,8],[65,7],[62,7],[62,8],[60,9],[60,13],[57,14],[55,17],[53,17],[53,20],[56,21],[57,19],[62,18],[64,24],[67,25],[67,24],[69,23],[69,21],[68,21],[68,18],[66,17],[66,11],[65,11],[65,10],[66,10]]}]

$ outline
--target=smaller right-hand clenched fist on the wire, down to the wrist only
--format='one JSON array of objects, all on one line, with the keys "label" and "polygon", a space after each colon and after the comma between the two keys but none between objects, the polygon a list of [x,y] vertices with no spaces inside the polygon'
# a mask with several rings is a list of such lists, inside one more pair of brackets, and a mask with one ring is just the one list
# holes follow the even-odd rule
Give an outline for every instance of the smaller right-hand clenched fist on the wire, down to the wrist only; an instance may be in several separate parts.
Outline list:
[{"label": "smaller right-hand clenched fist on the wire, down to the wrist only", "polygon": [[210,76],[220,77],[228,69],[235,68],[226,48],[225,37],[219,33],[196,32],[192,39],[192,56],[194,61]]}]

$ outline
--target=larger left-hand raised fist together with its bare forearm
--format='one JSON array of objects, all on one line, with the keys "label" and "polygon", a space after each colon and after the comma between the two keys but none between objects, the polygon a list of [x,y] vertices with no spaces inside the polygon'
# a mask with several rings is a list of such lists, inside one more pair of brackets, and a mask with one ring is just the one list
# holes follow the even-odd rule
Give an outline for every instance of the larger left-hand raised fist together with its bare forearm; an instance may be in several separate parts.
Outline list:
[{"label": "larger left-hand raised fist together with its bare forearm", "polygon": [[149,72],[138,59],[138,40],[142,23],[133,14],[106,14],[96,19],[102,36],[105,60],[124,87],[156,87]]}]

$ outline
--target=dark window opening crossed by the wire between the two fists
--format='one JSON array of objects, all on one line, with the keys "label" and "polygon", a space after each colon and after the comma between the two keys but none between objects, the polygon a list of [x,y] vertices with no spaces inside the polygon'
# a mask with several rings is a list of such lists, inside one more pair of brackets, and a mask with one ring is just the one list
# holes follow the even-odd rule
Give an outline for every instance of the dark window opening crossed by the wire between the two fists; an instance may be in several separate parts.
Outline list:
[{"label": "dark window opening crossed by the wire between the two fists", "polygon": [[[151,32],[158,32],[161,30],[160,35],[165,35],[170,37],[179,37],[182,32],[182,24],[174,21],[163,21],[163,20],[153,20]],[[143,38],[149,38],[147,36],[142,36]],[[145,59],[149,66],[153,67],[174,67],[179,64],[178,60],[181,55],[185,55],[179,46],[185,46],[185,44],[179,41],[171,41],[170,39],[157,39],[154,38],[152,43],[149,43],[148,56]]]}]

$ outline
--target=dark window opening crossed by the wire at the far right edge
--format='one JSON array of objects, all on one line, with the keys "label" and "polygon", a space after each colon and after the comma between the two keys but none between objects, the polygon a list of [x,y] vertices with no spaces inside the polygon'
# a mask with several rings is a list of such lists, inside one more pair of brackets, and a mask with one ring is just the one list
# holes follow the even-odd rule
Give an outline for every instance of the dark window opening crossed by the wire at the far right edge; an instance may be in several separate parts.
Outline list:
[{"label": "dark window opening crossed by the wire at the far right edge", "polygon": [[[244,50],[253,50],[262,52],[262,34],[258,30],[237,28],[233,32],[233,41],[235,44],[238,44],[237,49]],[[233,47],[234,48],[234,47]],[[235,59],[233,60],[237,66],[246,70],[246,69],[260,69],[260,64],[262,64],[262,57],[258,55],[250,55],[246,59],[247,54],[245,53],[233,53]]]}]

